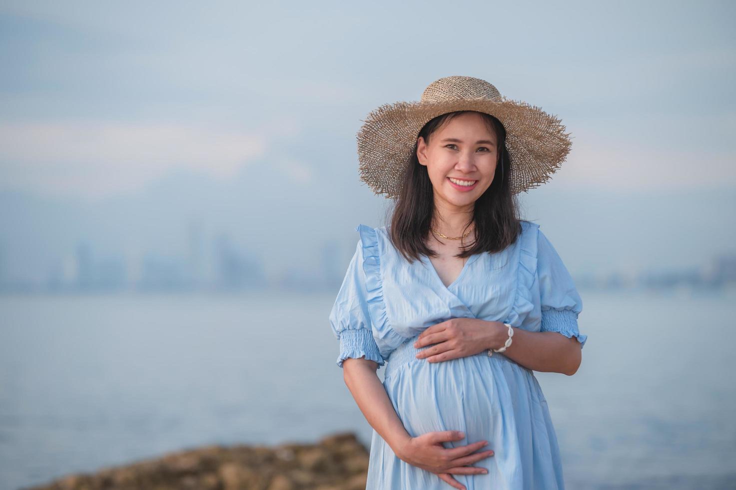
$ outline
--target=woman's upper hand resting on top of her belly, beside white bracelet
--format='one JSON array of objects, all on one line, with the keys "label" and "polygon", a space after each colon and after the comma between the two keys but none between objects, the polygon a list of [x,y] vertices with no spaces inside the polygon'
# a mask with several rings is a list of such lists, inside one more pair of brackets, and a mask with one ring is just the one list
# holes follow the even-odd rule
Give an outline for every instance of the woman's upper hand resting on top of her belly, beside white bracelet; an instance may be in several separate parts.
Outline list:
[{"label": "woman's upper hand resting on top of her belly, beside white bracelet", "polygon": [[500,338],[500,329],[506,326],[498,321],[485,321],[478,318],[450,318],[425,329],[417,337],[415,348],[431,346],[417,353],[417,359],[426,358],[430,363],[442,362],[459,357],[472,356],[494,347]]}]

